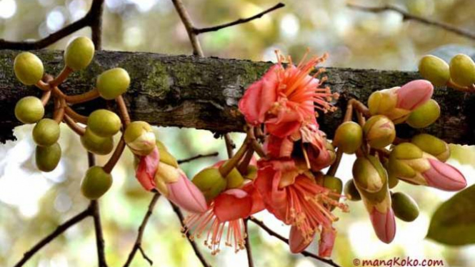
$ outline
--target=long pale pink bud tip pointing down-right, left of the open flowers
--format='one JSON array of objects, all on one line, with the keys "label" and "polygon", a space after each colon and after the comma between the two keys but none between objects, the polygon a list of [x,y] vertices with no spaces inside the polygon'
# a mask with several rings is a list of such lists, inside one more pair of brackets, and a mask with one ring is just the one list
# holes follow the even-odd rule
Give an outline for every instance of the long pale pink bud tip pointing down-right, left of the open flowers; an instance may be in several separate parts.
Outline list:
[{"label": "long pale pink bud tip pointing down-right, left of the open flowers", "polygon": [[181,169],[178,168],[177,171],[180,172],[178,181],[167,184],[169,188],[169,200],[181,208],[184,208],[186,211],[193,213],[205,212],[208,207],[203,193],[199,191],[199,188],[197,188],[194,183],[189,181]]}]

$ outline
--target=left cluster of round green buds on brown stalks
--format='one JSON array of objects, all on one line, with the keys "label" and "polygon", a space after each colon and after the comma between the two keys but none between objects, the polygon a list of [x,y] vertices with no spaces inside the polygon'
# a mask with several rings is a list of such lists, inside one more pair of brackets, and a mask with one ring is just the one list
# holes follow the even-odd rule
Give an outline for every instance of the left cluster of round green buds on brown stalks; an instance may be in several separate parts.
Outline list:
[{"label": "left cluster of round green buds on brown stalks", "polygon": [[[43,97],[26,96],[20,99],[15,106],[16,118],[24,124],[35,124],[32,131],[36,143],[36,166],[41,171],[53,171],[61,158],[59,124],[64,121],[64,108],[68,105],[67,99],[59,89],[59,84],[73,71],[85,69],[94,58],[94,44],[86,37],[79,37],[69,43],[64,51],[64,69],[61,75],[64,78],[46,81],[44,66],[38,56],[30,52],[23,52],[14,60],[14,72],[26,86],[35,85],[44,91]],[[56,77],[56,79],[59,79]],[[56,82],[56,83],[55,83]],[[96,79],[97,95],[103,99],[116,99],[129,88],[130,77],[127,71],[121,68],[109,69]],[[58,93],[58,91],[60,93]],[[46,94],[47,93],[47,94]],[[87,93],[86,93],[87,94]],[[49,96],[55,99],[53,119],[44,118],[45,108]],[[81,95],[78,95],[81,97]],[[77,96],[76,96],[77,98]],[[57,103],[62,103],[57,105]],[[62,112],[59,110],[63,109]],[[78,121],[74,121],[76,124]],[[87,151],[97,155],[106,155],[114,149],[113,136],[122,129],[121,119],[117,114],[106,109],[99,109],[87,117],[86,127],[82,128],[81,143]],[[129,145],[141,135],[141,130],[151,131],[149,124],[136,121],[124,131],[124,141]],[[109,171],[110,172],[110,171]],[[102,196],[111,186],[112,177],[108,171],[99,166],[93,166],[86,172],[81,182],[81,192],[87,198],[96,199]]]}]

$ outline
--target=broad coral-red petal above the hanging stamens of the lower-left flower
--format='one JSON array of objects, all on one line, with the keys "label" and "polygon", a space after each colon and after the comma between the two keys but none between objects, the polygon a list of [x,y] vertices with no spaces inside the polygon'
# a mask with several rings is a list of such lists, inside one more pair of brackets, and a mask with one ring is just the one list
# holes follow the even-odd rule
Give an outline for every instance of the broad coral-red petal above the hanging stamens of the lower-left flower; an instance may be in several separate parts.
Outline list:
[{"label": "broad coral-red petal above the hanging stamens of the lower-left flower", "polygon": [[241,189],[229,189],[214,198],[214,214],[221,223],[247,218],[251,208],[251,196]]}]

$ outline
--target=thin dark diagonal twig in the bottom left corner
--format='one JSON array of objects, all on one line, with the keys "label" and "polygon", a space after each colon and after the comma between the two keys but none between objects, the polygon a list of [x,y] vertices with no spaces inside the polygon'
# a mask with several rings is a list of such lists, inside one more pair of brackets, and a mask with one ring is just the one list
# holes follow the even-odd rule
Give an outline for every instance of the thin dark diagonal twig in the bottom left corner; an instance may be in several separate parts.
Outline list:
[{"label": "thin dark diagonal twig in the bottom left corner", "polygon": [[76,214],[76,216],[70,218],[68,221],[65,221],[64,223],[61,223],[56,230],[51,232],[48,236],[45,238],[41,239],[38,243],[36,243],[35,246],[33,246],[29,251],[26,251],[23,255],[23,258],[15,264],[14,267],[20,267],[23,266],[26,261],[31,258],[31,256],[34,256],[36,252],[38,252],[41,248],[46,246],[49,242],[53,241],[54,238],[58,237],[61,235],[61,233],[64,233],[64,231],[68,230],[71,226],[74,226],[76,223],[79,223],[80,221],[84,220],[87,216],[91,215],[91,208],[86,208],[86,210],[81,211],[81,213]]}]

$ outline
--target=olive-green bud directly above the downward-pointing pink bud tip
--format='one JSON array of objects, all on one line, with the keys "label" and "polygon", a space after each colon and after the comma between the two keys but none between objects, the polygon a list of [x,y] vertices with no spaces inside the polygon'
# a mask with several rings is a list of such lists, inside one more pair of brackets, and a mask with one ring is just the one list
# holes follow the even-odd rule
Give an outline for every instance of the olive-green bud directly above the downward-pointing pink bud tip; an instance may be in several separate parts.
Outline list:
[{"label": "olive-green bud directly above the downward-pointing pink bud tip", "polygon": [[381,191],[388,178],[379,159],[371,155],[356,158],[352,172],[356,187],[369,193]]}]

